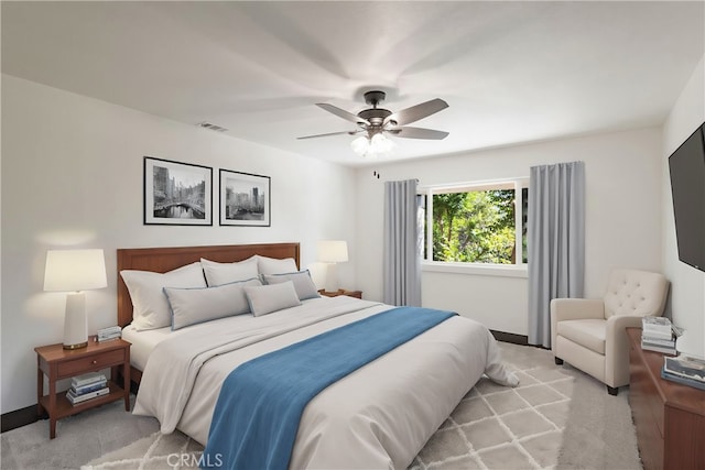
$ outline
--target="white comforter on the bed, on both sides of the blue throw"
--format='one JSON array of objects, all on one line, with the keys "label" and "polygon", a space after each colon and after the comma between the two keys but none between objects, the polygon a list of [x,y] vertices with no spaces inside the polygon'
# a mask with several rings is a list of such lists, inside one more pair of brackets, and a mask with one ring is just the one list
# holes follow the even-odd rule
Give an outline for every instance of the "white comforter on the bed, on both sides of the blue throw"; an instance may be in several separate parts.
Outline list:
[{"label": "white comforter on the bed, on both sides of the blue throw", "polygon": [[[199,325],[156,346],[134,413],[155,416],[163,433],[178,428],[205,445],[223,381],[237,365],[389,308],[339,296]],[[489,330],[453,317],[312,400],[290,467],[406,468],[482,373],[518,383],[500,362]]]}]

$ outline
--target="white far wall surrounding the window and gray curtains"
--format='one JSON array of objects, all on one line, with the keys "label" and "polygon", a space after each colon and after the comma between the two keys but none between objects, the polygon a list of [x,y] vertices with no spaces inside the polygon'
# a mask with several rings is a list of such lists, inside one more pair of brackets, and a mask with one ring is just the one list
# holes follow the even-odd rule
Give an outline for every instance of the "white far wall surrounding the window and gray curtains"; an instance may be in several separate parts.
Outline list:
[{"label": "white far wall surrounding the window and gray curtains", "polygon": [[[661,147],[661,130],[650,128],[358,170],[355,287],[368,298],[382,297],[384,181],[417,178],[420,185],[435,185],[522,177],[533,165],[578,160],[586,172],[586,296],[601,297],[614,267],[662,271]],[[525,277],[424,271],[422,282],[424,306],[527,335]]]}]

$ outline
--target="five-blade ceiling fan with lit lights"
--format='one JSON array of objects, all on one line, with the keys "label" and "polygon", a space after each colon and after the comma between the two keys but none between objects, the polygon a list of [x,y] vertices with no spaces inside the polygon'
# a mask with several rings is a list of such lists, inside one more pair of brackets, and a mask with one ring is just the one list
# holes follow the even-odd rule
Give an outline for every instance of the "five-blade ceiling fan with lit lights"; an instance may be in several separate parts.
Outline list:
[{"label": "five-blade ceiling fan with lit lights", "polygon": [[444,131],[436,131],[433,129],[424,128],[411,128],[405,124],[419,121],[448,107],[448,103],[444,100],[436,98],[430,101],[422,102],[416,106],[412,106],[401,111],[392,112],[389,109],[378,108],[377,106],[384,100],[387,94],[384,91],[371,90],[365,94],[365,102],[370,105],[371,108],[364,109],[362,111],[354,114],[344,109],[340,109],[333,105],[323,102],[316,103],[317,107],[325,109],[333,114],[345,119],[346,121],[355,122],[358,129],[354,131],[329,132],[326,134],[306,135],[297,139],[315,139],[329,135],[360,135],[360,138],[352,141],[352,150],[361,155],[367,155],[373,147],[377,146],[381,150],[372,153],[388,152],[391,145],[391,141],[384,138],[384,133],[395,135],[405,139],[431,139],[441,140],[445,139],[448,133]]}]

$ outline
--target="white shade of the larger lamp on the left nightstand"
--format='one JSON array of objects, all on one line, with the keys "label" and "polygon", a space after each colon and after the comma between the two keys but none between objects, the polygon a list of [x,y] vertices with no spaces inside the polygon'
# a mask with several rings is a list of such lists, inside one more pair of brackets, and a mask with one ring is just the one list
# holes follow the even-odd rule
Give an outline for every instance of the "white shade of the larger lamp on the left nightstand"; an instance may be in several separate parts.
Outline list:
[{"label": "white shade of the larger lamp on the left nightstand", "polygon": [[44,291],[88,291],[108,285],[102,250],[48,250]]}]

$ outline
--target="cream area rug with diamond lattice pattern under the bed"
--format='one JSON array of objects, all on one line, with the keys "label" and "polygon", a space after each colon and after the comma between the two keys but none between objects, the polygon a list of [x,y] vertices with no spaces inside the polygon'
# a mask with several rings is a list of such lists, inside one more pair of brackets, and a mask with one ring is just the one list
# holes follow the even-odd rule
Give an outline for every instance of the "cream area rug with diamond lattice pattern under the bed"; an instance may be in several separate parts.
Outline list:
[{"label": "cream area rug with diamond lattice pattern under the bed", "polygon": [[[619,396],[550,351],[500,343],[521,383],[481,379],[431,437],[411,469],[640,469],[636,435],[622,389]],[[181,433],[140,439],[85,470],[197,468],[203,447]]]}]

